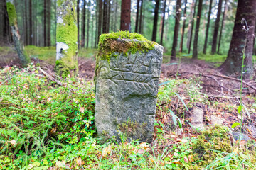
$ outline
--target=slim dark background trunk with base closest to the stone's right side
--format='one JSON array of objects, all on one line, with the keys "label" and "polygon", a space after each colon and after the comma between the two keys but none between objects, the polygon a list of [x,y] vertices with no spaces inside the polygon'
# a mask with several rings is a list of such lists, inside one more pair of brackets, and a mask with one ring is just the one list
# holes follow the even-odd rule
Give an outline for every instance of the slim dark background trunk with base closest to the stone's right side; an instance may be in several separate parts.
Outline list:
[{"label": "slim dark background trunk with base closest to the stone's right side", "polygon": [[175,17],[175,26],[174,26],[174,40],[171,48],[171,60],[176,59],[176,47],[178,44],[178,29],[179,21],[181,18],[181,0],[176,1],[176,17]]}]

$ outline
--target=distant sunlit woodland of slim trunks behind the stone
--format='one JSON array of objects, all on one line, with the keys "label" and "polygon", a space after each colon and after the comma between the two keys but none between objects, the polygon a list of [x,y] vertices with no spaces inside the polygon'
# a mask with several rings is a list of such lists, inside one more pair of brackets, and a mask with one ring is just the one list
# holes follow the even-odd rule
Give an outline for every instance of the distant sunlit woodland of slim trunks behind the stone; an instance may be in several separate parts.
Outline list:
[{"label": "distant sunlit woodland of slim trunks behind the stone", "polygon": [[[80,47],[96,48],[97,37],[101,33],[119,30],[121,0],[78,0],[78,2]],[[142,33],[147,39],[155,40],[159,44],[164,45],[165,52],[171,52],[173,39],[176,38],[177,51],[190,53],[191,44],[193,47],[193,31],[196,28],[195,14],[198,11],[198,1],[196,8],[195,3],[195,0],[180,1],[181,13],[179,15],[181,16],[181,21],[179,22],[178,36],[174,36],[176,1],[134,0],[131,6],[132,32]],[[207,52],[210,52],[211,45],[215,45],[218,54],[228,53],[233,33],[237,1],[223,0],[221,3],[222,5],[218,6],[218,1],[203,1],[198,38],[199,52],[203,52],[204,46]],[[16,6],[18,28],[23,44],[40,47],[55,46],[56,0],[15,0],[14,4]],[[156,5],[159,6],[155,10]],[[8,20],[6,20],[4,6],[5,0],[1,1],[0,10],[0,23],[3,23],[0,26],[1,43],[11,39],[10,30],[7,29]],[[211,8],[210,15],[209,8]],[[153,22],[156,11],[158,12],[156,15],[158,20]],[[100,15],[102,18],[99,17]],[[208,19],[210,22],[208,22]],[[219,29],[217,33],[214,33],[215,22],[218,22]],[[192,28],[193,31],[191,31]],[[205,43],[207,30],[208,39]],[[254,51],[256,53],[256,50]]]}]

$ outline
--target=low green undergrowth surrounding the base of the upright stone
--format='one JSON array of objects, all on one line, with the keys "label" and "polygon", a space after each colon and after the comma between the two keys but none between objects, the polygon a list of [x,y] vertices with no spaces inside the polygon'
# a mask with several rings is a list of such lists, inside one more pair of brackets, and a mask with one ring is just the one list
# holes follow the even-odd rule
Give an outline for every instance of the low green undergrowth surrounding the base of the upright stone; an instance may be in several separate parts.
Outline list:
[{"label": "low green undergrowth surrounding the base of the upright stone", "polygon": [[[50,74],[50,73],[49,73]],[[203,76],[161,78],[154,141],[126,142],[126,135],[100,145],[94,124],[92,81],[50,79],[38,65],[0,71],[1,169],[255,169],[255,95],[243,93],[242,132],[251,142],[230,137],[239,103],[230,95],[203,91]],[[218,89],[217,89],[218,90]],[[221,89],[220,89],[221,90]],[[233,91],[234,95],[236,91]],[[239,93],[239,91],[237,92]],[[201,107],[206,130],[191,126]],[[210,125],[210,115],[225,126]],[[227,128],[228,127],[228,128]],[[238,150],[239,148],[239,150]]]}]

